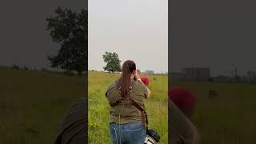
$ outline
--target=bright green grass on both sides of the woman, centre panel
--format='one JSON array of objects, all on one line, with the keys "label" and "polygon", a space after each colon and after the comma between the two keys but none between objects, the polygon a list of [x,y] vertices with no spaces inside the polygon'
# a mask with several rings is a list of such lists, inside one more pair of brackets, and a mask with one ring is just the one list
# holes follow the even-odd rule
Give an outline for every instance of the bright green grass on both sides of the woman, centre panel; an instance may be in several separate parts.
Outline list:
[{"label": "bright green grass on both sides of the woman, centre panel", "polygon": [[[119,74],[108,74],[90,71],[89,81],[89,142],[112,143],[109,132],[109,103],[105,97],[107,86],[119,77]],[[161,135],[159,144],[168,143],[168,78],[167,76],[150,75],[151,96],[146,100],[150,127]],[[154,80],[156,78],[156,80]]]}]

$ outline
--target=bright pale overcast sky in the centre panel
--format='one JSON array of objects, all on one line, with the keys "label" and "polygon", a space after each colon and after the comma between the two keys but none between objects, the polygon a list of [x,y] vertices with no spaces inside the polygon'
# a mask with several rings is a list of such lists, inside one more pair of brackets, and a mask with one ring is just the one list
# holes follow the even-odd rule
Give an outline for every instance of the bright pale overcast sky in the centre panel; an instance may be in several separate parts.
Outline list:
[{"label": "bright pale overcast sky in the centre panel", "polygon": [[88,13],[89,70],[103,70],[106,51],[142,71],[168,70],[168,0],[89,0]]}]

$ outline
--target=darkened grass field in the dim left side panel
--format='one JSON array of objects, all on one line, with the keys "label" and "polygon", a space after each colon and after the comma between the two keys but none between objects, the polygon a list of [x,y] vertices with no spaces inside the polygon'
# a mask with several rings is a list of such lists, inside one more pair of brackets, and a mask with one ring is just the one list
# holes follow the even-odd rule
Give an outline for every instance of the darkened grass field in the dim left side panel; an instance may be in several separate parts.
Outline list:
[{"label": "darkened grass field in the dim left side panel", "polygon": [[54,143],[70,105],[85,96],[85,79],[0,68],[0,144]]}]

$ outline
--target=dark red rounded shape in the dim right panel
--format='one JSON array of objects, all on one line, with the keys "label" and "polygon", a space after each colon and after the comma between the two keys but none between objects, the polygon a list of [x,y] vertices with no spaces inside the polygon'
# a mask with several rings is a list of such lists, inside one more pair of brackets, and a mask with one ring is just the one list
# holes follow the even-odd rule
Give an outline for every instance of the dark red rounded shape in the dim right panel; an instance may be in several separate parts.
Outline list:
[{"label": "dark red rounded shape in the dim right panel", "polygon": [[170,99],[191,120],[196,104],[194,93],[185,87],[175,86],[170,90]]}]

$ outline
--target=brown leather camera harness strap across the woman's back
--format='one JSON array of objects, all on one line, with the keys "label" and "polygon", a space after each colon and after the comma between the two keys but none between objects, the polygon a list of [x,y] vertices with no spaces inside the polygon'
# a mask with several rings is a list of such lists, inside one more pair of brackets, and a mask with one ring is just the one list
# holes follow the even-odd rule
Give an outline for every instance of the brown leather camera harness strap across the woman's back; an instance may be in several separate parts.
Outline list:
[{"label": "brown leather camera harness strap across the woman's back", "polygon": [[[126,97],[119,98],[119,99],[116,100],[115,102],[110,103],[110,106],[117,106],[119,103],[121,103],[121,102],[124,101],[125,99],[128,100],[128,102],[130,102],[130,104],[132,104],[132,105],[135,106],[138,110],[141,111],[142,125],[143,125],[143,128],[147,129],[147,128],[148,128],[148,127],[147,127],[147,125],[148,125],[148,120],[147,120],[147,114],[146,114],[146,108],[145,108],[145,106],[144,106],[144,105],[143,105],[143,107],[140,106],[140,105],[138,104],[138,102],[135,102],[134,99],[131,98],[131,96],[130,96],[131,91],[132,91],[132,89],[134,88],[135,82],[136,82],[136,81],[130,82],[128,94],[127,94]],[[121,86],[118,84],[118,82],[116,82],[116,86],[117,86],[117,89],[118,89],[119,93],[121,94]]]}]

